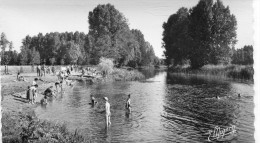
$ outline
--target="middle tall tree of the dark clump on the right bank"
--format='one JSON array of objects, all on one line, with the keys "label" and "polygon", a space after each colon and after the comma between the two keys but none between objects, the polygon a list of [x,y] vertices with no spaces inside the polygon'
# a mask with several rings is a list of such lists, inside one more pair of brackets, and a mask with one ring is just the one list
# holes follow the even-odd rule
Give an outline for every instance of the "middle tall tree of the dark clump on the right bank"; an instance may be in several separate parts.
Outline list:
[{"label": "middle tall tree of the dark clump on the right bank", "polygon": [[200,0],[191,9],[189,35],[191,46],[189,59],[192,68],[200,68],[209,63],[211,52],[211,26],[213,23],[213,0]]}]

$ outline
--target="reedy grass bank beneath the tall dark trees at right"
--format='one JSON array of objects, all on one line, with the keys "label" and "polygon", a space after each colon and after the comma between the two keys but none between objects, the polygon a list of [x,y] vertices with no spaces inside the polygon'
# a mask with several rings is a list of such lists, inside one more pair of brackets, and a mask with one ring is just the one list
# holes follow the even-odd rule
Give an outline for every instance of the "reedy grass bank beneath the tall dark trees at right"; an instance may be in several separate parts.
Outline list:
[{"label": "reedy grass bank beneath the tall dark trees at right", "polygon": [[254,68],[252,65],[205,65],[197,70],[191,69],[189,66],[176,66],[169,68],[169,71],[249,81],[254,79]]}]

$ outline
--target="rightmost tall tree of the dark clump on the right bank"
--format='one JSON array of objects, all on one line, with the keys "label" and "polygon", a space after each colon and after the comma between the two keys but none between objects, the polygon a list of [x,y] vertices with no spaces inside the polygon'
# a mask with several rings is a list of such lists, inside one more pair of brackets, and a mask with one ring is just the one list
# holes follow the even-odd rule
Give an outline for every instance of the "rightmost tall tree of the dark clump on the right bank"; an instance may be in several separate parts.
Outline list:
[{"label": "rightmost tall tree of the dark clump on the right bank", "polygon": [[213,24],[210,53],[210,63],[228,64],[231,62],[231,48],[236,44],[237,21],[230,13],[229,7],[225,7],[221,0],[217,0],[212,8]]}]

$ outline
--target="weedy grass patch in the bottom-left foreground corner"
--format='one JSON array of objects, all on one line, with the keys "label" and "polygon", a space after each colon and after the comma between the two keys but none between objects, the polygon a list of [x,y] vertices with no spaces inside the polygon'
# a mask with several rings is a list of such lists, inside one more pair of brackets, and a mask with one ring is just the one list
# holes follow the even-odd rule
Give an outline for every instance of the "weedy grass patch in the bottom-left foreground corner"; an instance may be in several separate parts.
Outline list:
[{"label": "weedy grass patch in the bottom-left foreground corner", "polygon": [[69,132],[65,124],[54,124],[39,120],[34,112],[2,114],[3,143],[85,143],[87,138],[77,130]]}]

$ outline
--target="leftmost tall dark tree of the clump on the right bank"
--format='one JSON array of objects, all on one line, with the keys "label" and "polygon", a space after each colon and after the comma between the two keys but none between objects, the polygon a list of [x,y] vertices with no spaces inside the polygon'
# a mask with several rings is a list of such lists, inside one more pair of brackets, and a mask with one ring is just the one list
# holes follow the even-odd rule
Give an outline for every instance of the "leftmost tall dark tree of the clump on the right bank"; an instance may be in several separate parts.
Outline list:
[{"label": "leftmost tall dark tree of the clump on the right bank", "polygon": [[176,14],[169,17],[167,23],[163,24],[163,48],[165,48],[166,61],[174,65],[182,64],[188,57],[189,46],[189,11],[180,8]]}]

